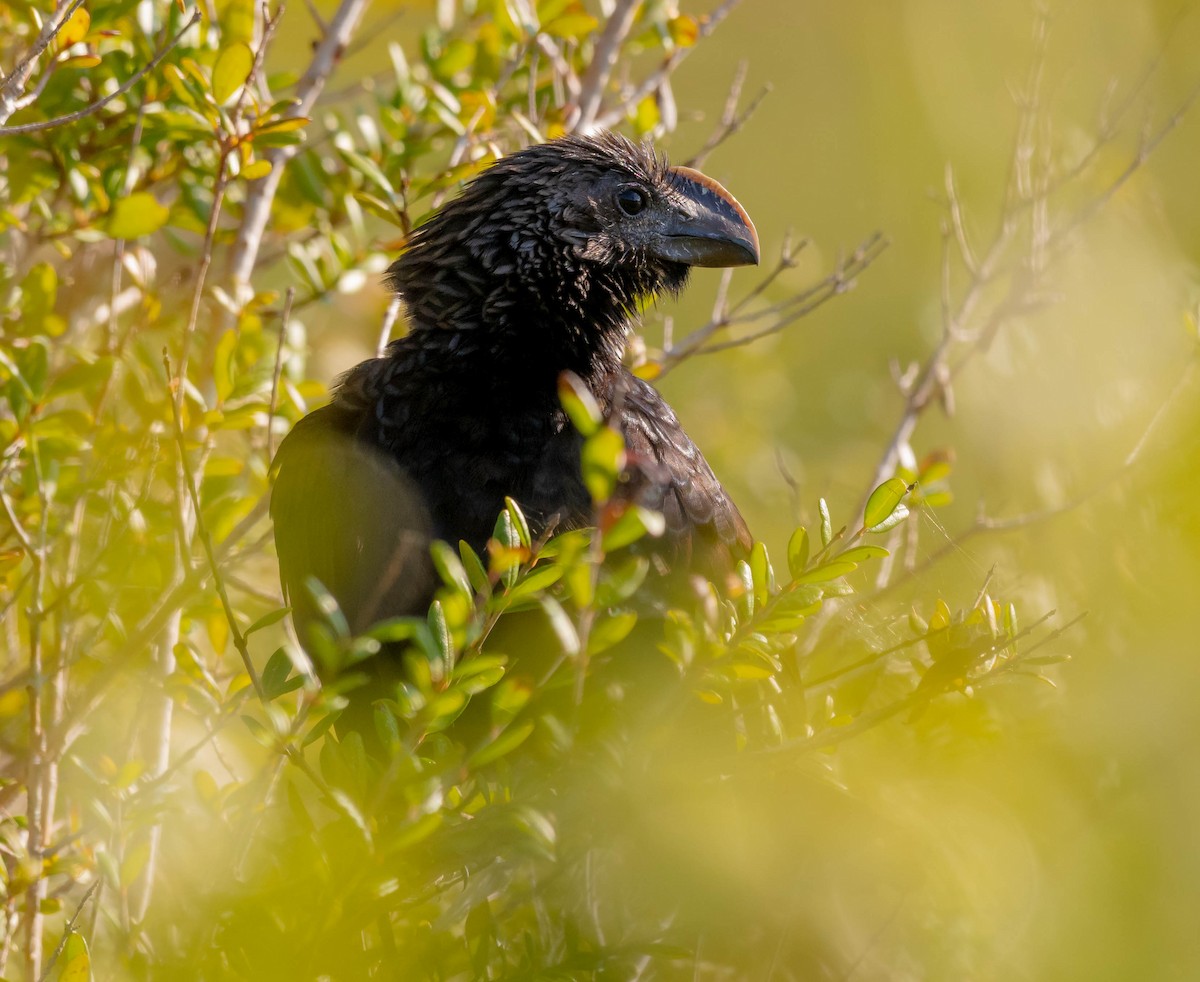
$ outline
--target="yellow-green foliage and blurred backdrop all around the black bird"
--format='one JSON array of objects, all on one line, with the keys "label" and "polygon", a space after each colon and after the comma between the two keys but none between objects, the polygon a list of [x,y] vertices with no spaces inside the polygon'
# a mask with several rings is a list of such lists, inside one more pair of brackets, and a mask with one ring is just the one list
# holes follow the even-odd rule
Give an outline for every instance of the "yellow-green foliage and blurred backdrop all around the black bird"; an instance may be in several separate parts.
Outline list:
[{"label": "yellow-green foliage and blurred backdrop all around the black bird", "polygon": [[[301,112],[354,7],[287,7],[266,97],[241,94],[252,5],[185,29],[186,4],[89,4],[5,106],[0,975],[1195,977],[1200,10],[376,2]],[[378,280],[406,226],[575,125],[623,10],[606,121],[672,158],[721,130],[740,73],[740,109],[769,86],[703,164],[764,267],[806,242],[762,303],[859,273],[677,359],[724,289],[700,271],[634,346],[776,582],[760,552],[743,595],[640,624],[623,661],[636,570],[522,552],[517,515],[517,567],[458,588],[450,557],[443,619],[380,635],[433,666],[384,707],[380,762],[328,729],[343,691],[286,640],[269,455],[402,329]],[[48,16],[0,12],[6,72]],[[163,49],[103,112],[19,132]],[[668,89],[628,97],[664,64]],[[826,576],[818,499],[850,529],[830,551],[854,547],[898,468],[930,486],[871,538],[892,556]],[[582,709],[487,660],[515,652],[481,625],[527,604],[568,667],[612,655]],[[331,658],[368,648],[335,630]]]}]

